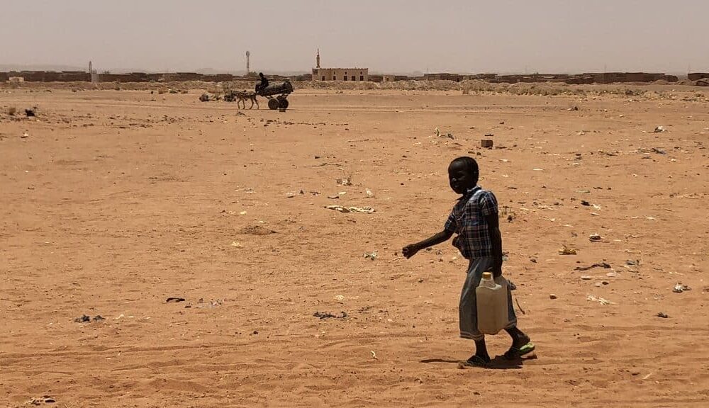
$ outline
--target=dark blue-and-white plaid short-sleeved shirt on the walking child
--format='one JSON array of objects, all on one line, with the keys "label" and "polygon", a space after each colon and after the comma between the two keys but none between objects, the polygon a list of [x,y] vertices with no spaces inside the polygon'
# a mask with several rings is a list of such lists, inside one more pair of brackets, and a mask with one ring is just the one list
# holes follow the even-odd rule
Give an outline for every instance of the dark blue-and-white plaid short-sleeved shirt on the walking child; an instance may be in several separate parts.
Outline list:
[{"label": "dark blue-and-white plaid short-sleeved shirt on the walking child", "polygon": [[497,213],[497,198],[479,186],[468,190],[454,205],[445,229],[458,234],[456,247],[466,259],[493,256],[486,217]]}]

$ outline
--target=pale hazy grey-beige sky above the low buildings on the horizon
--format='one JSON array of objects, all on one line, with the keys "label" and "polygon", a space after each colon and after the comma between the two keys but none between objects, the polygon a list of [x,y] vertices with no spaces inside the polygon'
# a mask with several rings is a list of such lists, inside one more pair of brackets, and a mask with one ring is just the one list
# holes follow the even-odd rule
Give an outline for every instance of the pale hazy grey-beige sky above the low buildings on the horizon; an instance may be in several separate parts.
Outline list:
[{"label": "pale hazy grey-beige sky above the low buildings on the horizon", "polygon": [[2,1],[0,65],[709,72],[709,0]]}]

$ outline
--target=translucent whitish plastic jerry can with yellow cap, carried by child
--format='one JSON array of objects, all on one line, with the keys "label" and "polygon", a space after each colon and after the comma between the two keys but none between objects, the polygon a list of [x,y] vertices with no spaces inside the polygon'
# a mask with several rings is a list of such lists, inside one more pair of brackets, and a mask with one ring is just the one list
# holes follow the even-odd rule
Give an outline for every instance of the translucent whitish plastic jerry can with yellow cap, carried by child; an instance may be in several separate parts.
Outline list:
[{"label": "translucent whitish plastic jerry can with yellow cap, carried by child", "polygon": [[497,334],[510,322],[507,313],[507,281],[502,277],[498,280],[501,284],[495,283],[492,273],[483,272],[480,285],[475,288],[478,330],[482,334]]}]

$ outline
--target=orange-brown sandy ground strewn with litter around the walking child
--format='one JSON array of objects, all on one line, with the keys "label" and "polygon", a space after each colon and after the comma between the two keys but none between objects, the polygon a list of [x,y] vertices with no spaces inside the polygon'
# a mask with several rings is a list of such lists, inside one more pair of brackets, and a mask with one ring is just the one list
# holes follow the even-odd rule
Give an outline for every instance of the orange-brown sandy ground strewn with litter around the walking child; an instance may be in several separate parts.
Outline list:
[{"label": "orange-brown sandy ground strewn with litter around the walking child", "polygon": [[[0,406],[707,407],[709,91],[643,89],[298,89],[242,114],[0,91]],[[537,344],[491,369],[458,366],[465,260],[401,256],[468,154]]]}]

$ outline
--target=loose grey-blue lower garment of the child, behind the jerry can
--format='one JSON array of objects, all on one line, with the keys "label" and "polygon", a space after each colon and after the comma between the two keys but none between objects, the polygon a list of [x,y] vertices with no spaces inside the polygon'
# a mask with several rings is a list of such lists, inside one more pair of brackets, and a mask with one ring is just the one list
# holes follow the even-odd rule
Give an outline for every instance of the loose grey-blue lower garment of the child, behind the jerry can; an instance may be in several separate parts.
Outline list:
[{"label": "loose grey-blue lower garment of the child, behind the jerry can", "polygon": [[[458,307],[460,336],[463,339],[474,341],[485,339],[485,335],[478,330],[478,307],[475,288],[480,284],[483,272],[492,272],[494,263],[495,261],[492,256],[481,256],[470,260],[463,290],[460,293],[460,305]],[[512,304],[512,287],[508,280],[502,276],[495,278],[495,282],[498,285],[507,285],[507,312],[510,322],[505,329],[510,329],[517,325],[517,315],[515,314],[515,307]]]}]

